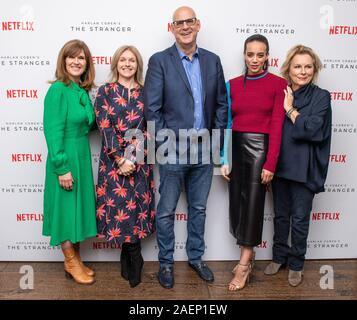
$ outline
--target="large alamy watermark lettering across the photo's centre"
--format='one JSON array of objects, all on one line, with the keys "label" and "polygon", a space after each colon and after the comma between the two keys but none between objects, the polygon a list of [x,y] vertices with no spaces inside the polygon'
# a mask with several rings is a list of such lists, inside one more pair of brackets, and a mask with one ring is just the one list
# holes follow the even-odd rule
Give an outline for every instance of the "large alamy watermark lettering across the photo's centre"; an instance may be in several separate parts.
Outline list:
[{"label": "large alamy watermark lettering across the photo's centre", "polygon": [[[230,129],[160,129],[155,122],[147,122],[147,132],[138,129],[127,130],[122,145],[123,156],[138,164],[214,164],[223,161],[224,136],[230,136]],[[146,146],[146,148],[145,148]],[[230,158],[231,139],[226,142],[226,158]],[[110,151],[109,151],[110,152]],[[221,154],[222,153],[222,154]]]}]

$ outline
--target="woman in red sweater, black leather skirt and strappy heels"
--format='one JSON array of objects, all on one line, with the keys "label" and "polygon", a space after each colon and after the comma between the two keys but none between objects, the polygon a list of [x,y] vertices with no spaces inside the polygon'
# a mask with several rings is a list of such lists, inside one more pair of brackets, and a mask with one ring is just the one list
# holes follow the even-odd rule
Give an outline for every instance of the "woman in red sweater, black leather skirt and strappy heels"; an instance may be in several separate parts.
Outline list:
[{"label": "woman in red sweater, black leather skirt and strappy heels", "polygon": [[244,58],[245,74],[227,83],[232,171],[229,174],[227,161],[221,168],[229,181],[230,231],[241,249],[229,283],[231,291],[243,289],[248,283],[253,249],[262,241],[265,191],[279,156],[287,86],[286,80],[267,70],[269,42],[264,36],[256,34],[246,39]]}]

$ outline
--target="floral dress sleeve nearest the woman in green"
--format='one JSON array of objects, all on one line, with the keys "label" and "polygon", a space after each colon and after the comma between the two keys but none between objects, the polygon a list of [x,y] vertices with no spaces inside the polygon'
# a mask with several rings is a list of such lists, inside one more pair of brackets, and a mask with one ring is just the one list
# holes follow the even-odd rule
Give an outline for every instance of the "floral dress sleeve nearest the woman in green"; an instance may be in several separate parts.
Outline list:
[{"label": "floral dress sleeve nearest the woman in green", "polygon": [[120,160],[124,156],[124,150],[119,144],[118,137],[114,128],[114,123],[108,114],[109,108],[110,104],[105,91],[105,85],[103,85],[99,88],[94,101],[96,122],[102,135],[104,152],[110,158]]}]

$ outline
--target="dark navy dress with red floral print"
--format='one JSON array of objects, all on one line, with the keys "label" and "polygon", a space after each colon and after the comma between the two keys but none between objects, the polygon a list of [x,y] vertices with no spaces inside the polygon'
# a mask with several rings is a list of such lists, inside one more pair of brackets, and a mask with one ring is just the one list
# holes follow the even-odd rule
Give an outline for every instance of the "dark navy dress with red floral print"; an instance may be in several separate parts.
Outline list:
[{"label": "dark navy dress with red floral print", "polygon": [[[143,88],[129,90],[118,82],[107,83],[99,88],[94,108],[102,135],[96,190],[98,237],[120,245],[135,243],[155,231],[153,166],[138,160],[139,152],[147,154]],[[128,138],[128,132],[141,139]],[[135,163],[133,174],[117,172],[115,160],[122,157]]]}]

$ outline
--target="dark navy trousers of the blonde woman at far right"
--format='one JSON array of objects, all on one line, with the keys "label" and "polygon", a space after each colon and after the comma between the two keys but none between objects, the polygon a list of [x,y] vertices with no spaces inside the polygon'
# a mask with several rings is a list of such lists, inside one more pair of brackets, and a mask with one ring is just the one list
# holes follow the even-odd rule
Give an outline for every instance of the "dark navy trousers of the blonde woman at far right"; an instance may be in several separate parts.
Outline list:
[{"label": "dark navy trousers of the blonde woman at far right", "polygon": [[[290,270],[304,267],[314,193],[303,183],[274,177],[273,261]],[[288,244],[291,230],[291,245]]]}]

